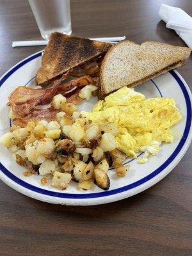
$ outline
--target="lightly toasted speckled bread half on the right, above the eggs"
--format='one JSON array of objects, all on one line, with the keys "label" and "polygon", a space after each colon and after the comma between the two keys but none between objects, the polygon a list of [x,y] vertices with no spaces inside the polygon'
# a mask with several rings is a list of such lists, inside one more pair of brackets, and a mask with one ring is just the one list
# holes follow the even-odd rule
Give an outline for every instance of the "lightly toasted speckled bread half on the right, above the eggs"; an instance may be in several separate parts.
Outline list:
[{"label": "lightly toasted speckled bread half on the right, above the eggs", "polygon": [[190,54],[188,47],[160,42],[143,42],[141,45],[129,40],[120,42],[109,49],[102,61],[101,94],[108,94],[123,86],[136,86],[180,67]]}]

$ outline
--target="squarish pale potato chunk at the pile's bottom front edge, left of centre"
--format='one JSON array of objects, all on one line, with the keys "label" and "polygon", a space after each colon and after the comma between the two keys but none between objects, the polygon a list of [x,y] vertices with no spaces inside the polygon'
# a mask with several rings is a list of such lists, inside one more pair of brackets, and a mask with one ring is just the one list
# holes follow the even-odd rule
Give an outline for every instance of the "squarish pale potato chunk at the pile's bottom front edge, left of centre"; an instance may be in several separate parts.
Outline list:
[{"label": "squarish pale potato chunk at the pile's bottom front edge, left of centre", "polygon": [[54,172],[53,178],[51,180],[51,186],[58,189],[66,189],[68,188],[68,184],[72,176],[70,173],[61,173],[61,172]]}]

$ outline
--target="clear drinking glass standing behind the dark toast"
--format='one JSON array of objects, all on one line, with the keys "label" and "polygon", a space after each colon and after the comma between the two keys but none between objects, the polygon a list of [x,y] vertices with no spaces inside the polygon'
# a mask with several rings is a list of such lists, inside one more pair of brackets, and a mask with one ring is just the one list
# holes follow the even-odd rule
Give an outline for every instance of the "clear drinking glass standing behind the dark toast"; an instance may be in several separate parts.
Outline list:
[{"label": "clear drinking glass standing behind the dark toast", "polygon": [[47,40],[52,32],[70,35],[70,0],[29,0],[42,37]]}]

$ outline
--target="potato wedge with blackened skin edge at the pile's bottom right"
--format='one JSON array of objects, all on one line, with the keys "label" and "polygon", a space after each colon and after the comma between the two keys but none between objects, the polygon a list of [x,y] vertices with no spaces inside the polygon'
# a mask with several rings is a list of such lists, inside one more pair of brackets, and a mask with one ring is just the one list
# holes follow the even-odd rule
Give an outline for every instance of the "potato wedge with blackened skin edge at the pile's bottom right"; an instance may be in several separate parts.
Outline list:
[{"label": "potato wedge with blackened skin edge at the pile's bottom right", "polygon": [[104,172],[104,170],[99,167],[95,167],[94,169],[95,182],[99,188],[104,190],[108,190],[110,186],[110,180],[108,174]]}]

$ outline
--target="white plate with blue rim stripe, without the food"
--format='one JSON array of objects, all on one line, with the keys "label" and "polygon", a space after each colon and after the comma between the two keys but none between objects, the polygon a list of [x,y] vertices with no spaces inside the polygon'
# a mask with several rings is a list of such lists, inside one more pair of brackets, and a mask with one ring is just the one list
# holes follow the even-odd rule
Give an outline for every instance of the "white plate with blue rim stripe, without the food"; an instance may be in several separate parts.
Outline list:
[{"label": "white plate with blue rim stripe, without the food", "polygon": [[[37,52],[20,61],[1,77],[0,135],[10,127],[9,108],[6,106],[8,95],[19,85],[35,85],[34,77],[40,67],[41,54],[42,52]],[[0,146],[1,180],[24,195],[52,204],[66,205],[106,204],[140,193],[159,182],[179,163],[191,142],[191,92],[184,79],[175,71],[136,86],[135,90],[144,93],[146,97],[173,97],[183,118],[172,129],[175,134],[173,143],[163,144],[159,154],[151,157],[148,163],[138,164],[135,159],[127,159],[125,163],[129,162],[131,168],[124,178],[116,177],[114,170],[110,170],[111,186],[108,191],[103,191],[97,186],[93,186],[89,191],[79,191],[75,182],[65,191],[58,191],[48,185],[42,187],[40,176],[24,177],[22,173],[25,168],[17,165],[3,146]],[[91,102],[83,102],[79,109],[90,111],[95,100],[93,98]]]}]

